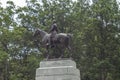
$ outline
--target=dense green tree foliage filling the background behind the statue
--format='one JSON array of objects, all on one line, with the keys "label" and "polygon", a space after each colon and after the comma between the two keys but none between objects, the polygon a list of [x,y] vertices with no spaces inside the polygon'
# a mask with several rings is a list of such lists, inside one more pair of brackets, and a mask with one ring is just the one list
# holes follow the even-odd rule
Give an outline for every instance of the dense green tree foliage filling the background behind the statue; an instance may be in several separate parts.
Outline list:
[{"label": "dense green tree foliage filling the background behind the statue", "polygon": [[[120,10],[116,0],[26,0],[0,6],[0,80],[34,80],[44,48],[36,28],[72,33],[72,57],[82,80],[120,79]],[[38,39],[39,40],[39,39]],[[68,52],[65,52],[65,56]]]}]

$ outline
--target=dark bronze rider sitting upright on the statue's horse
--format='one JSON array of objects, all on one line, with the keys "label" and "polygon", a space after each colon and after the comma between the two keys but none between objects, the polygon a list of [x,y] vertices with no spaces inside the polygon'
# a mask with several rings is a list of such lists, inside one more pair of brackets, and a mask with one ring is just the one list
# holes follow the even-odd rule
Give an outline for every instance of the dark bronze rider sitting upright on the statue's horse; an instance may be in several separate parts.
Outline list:
[{"label": "dark bronze rider sitting upright on the statue's horse", "polygon": [[50,33],[50,45],[51,47],[54,47],[54,41],[56,40],[55,35],[58,33],[58,28],[55,20],[52,23],[49,33]]}]

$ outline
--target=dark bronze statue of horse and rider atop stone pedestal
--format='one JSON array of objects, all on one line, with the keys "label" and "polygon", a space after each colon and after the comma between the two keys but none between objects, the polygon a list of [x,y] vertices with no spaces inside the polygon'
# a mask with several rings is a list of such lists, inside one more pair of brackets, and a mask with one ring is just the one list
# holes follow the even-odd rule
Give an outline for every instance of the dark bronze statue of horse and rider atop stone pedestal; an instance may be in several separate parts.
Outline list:
[{"label": "dark bronze statue of horse and rider atop stone pedestal", "polygon": [[[63,49],[68,49],[69,52],[71,52],[71,46],[70,46],[70,41],[72,38],[72,34],[70,33],[58,33],[58,28],[56,21],[53,21],[53,24],[50,28],[49,33],[45,32],[44,30],[41,29],[36,29],[34,33],[34,37],[40,35],[42,38],[42,43],[44,44],[46,51],[47,51],[47,58],[49,58],[49,49],[59,49],[59,46],[61,46],[61,49],[59,49],[59,52],[61,55],[59,58],[63,56],[62,50]],[[71,53],[69,55],[71,57]],[[55,56],[57,58],[58,56]]]}]

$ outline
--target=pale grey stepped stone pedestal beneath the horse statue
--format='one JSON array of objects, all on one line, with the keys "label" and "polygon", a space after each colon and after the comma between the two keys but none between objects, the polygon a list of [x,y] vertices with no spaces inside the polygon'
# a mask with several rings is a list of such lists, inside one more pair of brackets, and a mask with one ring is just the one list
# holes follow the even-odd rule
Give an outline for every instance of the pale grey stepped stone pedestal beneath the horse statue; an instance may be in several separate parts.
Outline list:
[{"label": "pale grey stepped stone pedestal beneath the horse statue", "polygon": [[80,71],[73,60],[41,61],[36,80],[80,80]]}]

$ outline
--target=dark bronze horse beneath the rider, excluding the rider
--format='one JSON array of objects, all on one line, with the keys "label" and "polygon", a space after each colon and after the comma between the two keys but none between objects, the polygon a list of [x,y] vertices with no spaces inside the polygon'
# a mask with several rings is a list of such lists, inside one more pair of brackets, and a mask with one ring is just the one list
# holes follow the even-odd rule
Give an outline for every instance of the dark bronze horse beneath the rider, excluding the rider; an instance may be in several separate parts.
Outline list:
[{"label": "dark bronze horse beneath the rider, excluding the rider", "polygon": [[[50,42],[50,34],[41,29],[37,29],[34,33],[34,37],[38,36],[38,35],[41,36],[42,43],[45,45],[45,48],[46,48],[47,52],[49,53],[50,45],[47,45],[47,44]],[[72,37],[72,34],[58,33],[55,35],[54,45],[55,46],[61,45],[62,48],[67,48],[69,51],[71,51],[71,47],[70,47],[71,37]]]}]

